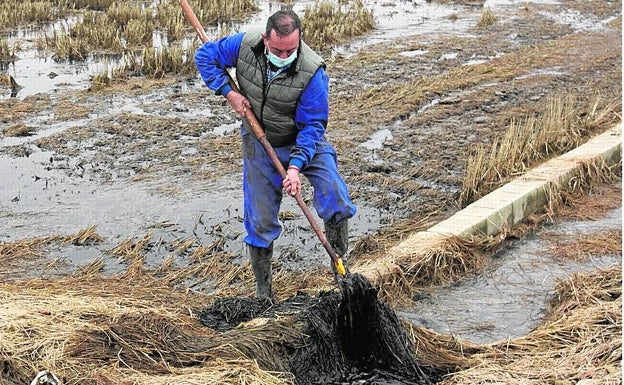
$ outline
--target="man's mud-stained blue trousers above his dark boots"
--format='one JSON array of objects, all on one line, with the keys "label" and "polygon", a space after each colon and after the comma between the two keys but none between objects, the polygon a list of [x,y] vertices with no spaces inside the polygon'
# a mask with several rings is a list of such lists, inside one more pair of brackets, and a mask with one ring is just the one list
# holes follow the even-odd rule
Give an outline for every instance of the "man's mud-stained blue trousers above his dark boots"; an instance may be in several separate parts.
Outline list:
[{"label": "man's mud-stained blue trousers above his dark boots", "polygon": [[[282,165],[287,167],[290,148],[274,150]],[[245,243],[268,248],[282,230],[278,220],[282,177],[260,142],[246,132],[243,132],[243,155]],[[355,205],[338,174],[336,152],[325,139],[317,145],[312,162],[301,172],[314,188],[313,204],[321,219],[339,223],[355,215]]]}]

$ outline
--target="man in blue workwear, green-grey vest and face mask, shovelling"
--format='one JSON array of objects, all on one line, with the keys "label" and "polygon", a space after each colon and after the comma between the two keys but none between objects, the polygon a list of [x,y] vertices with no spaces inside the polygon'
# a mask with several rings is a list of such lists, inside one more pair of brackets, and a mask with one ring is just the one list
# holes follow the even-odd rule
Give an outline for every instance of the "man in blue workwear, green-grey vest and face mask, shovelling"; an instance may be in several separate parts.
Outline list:
[{"label": "man in blue workwear, green-grey vest and face mask, shovelling", "polygon": [[[249,111],[264,128],[287,177],[275,169],[243,119],[243,222],[256,278],[256,297],[273,297],[271,257],[281,232],[278,213],[282,189],[301,191],[300,173],[314,188],[313,205],[325,224],[329,244],[347,252],[348,220],[356,212],[337,169],[336,152],[325,138],[329,117],[329,80],[325,63],[302,40],[301,21],[281,10],[266,30],[237,33],[208,42],[195,63],[208,88],[224,96],[243,118]],[[228,84],[226,68],[236,68],[240,93]]]}]

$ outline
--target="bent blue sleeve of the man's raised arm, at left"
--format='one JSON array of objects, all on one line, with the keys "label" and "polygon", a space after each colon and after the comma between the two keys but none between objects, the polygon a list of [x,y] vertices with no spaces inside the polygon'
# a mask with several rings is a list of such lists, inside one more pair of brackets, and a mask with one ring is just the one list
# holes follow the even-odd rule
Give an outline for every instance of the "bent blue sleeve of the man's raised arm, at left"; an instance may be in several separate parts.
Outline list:
[{"label": "bent blue sleeve of the man's raised arm, at left", "polygon": [[238,51],[244,33],[209,41],[195,51],[195,66],[204,83],[217,95],[227,95],[231,90],[226,69],[236,66]]}]

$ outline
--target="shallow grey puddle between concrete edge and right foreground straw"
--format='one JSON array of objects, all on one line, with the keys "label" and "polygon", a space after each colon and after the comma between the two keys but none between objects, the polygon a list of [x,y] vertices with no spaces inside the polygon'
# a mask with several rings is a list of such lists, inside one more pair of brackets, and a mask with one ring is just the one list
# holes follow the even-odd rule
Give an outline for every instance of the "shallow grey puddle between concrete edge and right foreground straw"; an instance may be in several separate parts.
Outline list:
[{"label": "shallow grey puddle between concrete edge and right foreground straw", "polygon": [[621,208],[599,221],[548,226],[511,242],[478,277],[423,295],[412,308],[398,314],[414,324],[476,343],[523,336],[542,322],[555,279],[622,263],[620,255],[582,262],[556,260],[544,252],[550,244],[540,234],[590,234],[621,226]]}]

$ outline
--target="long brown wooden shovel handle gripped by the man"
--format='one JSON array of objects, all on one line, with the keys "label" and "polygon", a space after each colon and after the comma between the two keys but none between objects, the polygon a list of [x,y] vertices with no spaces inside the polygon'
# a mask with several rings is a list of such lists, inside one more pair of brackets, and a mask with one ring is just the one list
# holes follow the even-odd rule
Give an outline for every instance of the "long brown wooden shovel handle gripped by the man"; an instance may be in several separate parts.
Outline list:
[{"label": "long brown wooden shovel handle gripped by the man", "polygon": [[[193,12],[193,9],[191,8],[191,6],[188,4],[186,0],[179,0],[179,2],[180,2],[180,6],[182,7],[182,11],[184,12],[184,16],[186,16],[186,19],[191,23],[193,28],[195,28],[195,32],[197,32],[197,35],[199,36],[202,43],[206,43],[208,41],[208,35],[206,35],[206,31],[204,30],[204,27],[202,27],[201,23],[197,19],[197,16],[195,16],[195,12]],[[229,78],[229,83],[232,89],[235,90],[236,92],[240,92],[238,89],[238,86],[236,85],[234,80],[230,77],[229,73],[228,73],[228,78]],[[282,162],[280,162],[279,158],[277,157],[277,154],[275,153],[275,150],[271,146],[271,143],[269,143],[269,140],[267,139],[266,134],[264,133],[264,129],[258,122],[258,119],[254,115],[253,111],[245,112],[245,120],[247,120],[247,123],[249,123],[249,125],[251,126],[254,134],[256,135],[256,138],[258,138],[258,140],[262,144],[262,147],[264,147],[264,150],[266,151],[267,155],[273,162],[273,165],[275,166],[275,169],[277,170],[277,172],[279,172],[282,178],[286,178],[287,176],[286,170],[284,169],[284,166],[282,166]],[[329,254],[338,272],[343,276],[346,275],[346,268],[344,267],[342,263],[342,259],[332,249],[332,247],[329,245],[329,242],[327,242],[327,238],[325,238],[325,234],[323,234],[323,231],[321,230],[320,226],[318,225],[318,223],[316,223],[316,220],[314,219],[314,216],[312,215],[310,208],[303,201],[303,198],[301,197],[301,193],[297,193],[295,195],[295,200],[297,201],[297,205],[299,206],[301,211],[303,211],[303,214],[305,215],[308,222],[310,222],[310,226],[312,226],[312,229],[314,230],[317,237],[321,241],[321,244],[325,248],[325,251],[327,251],[327,253]]]}]

